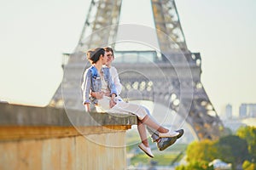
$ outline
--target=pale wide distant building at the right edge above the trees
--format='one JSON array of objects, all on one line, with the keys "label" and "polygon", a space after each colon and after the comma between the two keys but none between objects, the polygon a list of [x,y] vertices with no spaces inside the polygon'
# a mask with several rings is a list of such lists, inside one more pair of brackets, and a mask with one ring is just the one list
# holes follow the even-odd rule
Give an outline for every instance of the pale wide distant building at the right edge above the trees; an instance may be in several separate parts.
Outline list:
[{"label": "pale wide distant building at the right edge above the trees", "polygon": [[239,107],[239,117],[256,117],[256,104],[241,104]]}]

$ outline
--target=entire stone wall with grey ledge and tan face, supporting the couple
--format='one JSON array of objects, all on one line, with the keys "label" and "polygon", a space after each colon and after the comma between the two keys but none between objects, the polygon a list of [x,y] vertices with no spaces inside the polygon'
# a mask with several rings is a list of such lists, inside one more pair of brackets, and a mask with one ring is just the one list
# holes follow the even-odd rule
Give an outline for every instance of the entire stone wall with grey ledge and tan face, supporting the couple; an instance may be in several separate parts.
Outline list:
[{"label": "entire stone wall with grey ledge and tan face, supporting the couple", "polygon": [[132,124],[136,116],[0,103],[0,169],[125,169]]}]

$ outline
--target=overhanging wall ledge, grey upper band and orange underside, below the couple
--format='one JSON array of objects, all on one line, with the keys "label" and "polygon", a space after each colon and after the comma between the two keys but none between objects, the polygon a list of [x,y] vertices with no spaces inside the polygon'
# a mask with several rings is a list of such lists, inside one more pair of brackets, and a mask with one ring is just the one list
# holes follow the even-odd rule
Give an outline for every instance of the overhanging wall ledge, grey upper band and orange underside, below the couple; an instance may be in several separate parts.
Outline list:
[{"label": "overhanging wall ledge, grey upper band and orange underside, below the couple", "polygon": [[134,124],[137,124],[137,116],[131,114],[87,113],[0,103],[0,140],[125,132]]}]

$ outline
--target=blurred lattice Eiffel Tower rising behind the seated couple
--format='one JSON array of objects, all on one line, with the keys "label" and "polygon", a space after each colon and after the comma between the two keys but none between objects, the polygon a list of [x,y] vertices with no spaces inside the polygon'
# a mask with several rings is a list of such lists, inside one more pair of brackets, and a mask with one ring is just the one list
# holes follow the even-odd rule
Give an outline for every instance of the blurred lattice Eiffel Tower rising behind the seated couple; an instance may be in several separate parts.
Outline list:
[{"label": "blurred lattice Eiffel Tower rising behind the seated couple", "polygon": [[[159,48],[115,52],[114,66],[124,86],[121,95],[166,105],[191,125],[198,139],[218,139],[223,124],[201,84],[201,54],[187,48],[174,0],[151,0],[155,29],[119,25],[121,5],[122,0],[91,1],[77,47],[64,54],[63,80],[49,105],[84,110],[80,84],[89,67],[84,54],[88,49],[114,48],[129,40],[155,47],[148,41],[154,34]],[[118,37],[118,31],[133,33]]]}]

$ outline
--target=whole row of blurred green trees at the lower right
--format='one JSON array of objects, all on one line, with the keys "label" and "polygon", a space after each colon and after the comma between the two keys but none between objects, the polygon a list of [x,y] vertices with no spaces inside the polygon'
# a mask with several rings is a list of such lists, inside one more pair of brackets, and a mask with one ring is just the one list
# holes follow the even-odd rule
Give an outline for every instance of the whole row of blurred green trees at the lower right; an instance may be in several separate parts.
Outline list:
[{"label": "whole row of blurred green trees at the lower right", "polygon": [[186,165],[176,170],[213,170],[215,159],[231,163],[232,169],[256,170],[256,127],[240,127],[235,134],[218,140],[195,141],[186,150]]}]

